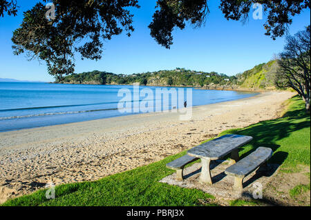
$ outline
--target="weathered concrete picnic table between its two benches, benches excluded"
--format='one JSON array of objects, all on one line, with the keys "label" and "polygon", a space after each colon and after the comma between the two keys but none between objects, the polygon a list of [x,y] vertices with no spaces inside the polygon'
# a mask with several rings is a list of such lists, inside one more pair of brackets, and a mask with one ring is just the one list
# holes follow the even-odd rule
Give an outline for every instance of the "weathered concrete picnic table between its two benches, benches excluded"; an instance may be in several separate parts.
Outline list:
[{"label": "weathered concrete picnic table between its two benches, benches excluded", "polygon": [[227,154],[231,153],[230,158],[235,163],[239,159],[238,148],[249,143],[252,139],[253,137],[250,136],[226,134],[188,150],[187,154],[189,156],[201,159],[202,168],[200,182],[212,184],[211,172],[209,170],[211,161],[222,159]]}]

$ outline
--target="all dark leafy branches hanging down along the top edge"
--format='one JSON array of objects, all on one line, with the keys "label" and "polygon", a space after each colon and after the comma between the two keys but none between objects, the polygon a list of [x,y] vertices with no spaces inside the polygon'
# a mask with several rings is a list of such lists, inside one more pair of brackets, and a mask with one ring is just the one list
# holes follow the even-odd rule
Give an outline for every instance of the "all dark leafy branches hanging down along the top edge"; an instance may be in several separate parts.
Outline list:
[{"label": "all dark leafy branches hanging down along the top edge", "polygon": [[[47,2],[48,0],[42,0]],[[138,0],[51,0],[55,19],[46,19],[47,9],[37,3],[23,13],[21,26],[15,30],[12,42],[15,54],[26,52],[30,59],[46,61],[48,73],[57,81],[75,70],[75,52],[82,59],[102,58],[104,41],[123,31],[133,32],[131,8],[139,8]],[[173,30],[184,29],[186,23],[198,27],[209,14],[207,0],[158,0],[151,37],[170,48]],[[267,14],[264,28],[272,39],[285,34],[292,17],[310,8],[310,0],[220,0],[220,10],[226,19],[246,21],[252,4],[261,3]],[[17,14],[17,0],[0,0],[0,17]],[[201,80],[202,84],[204,81]]]}]

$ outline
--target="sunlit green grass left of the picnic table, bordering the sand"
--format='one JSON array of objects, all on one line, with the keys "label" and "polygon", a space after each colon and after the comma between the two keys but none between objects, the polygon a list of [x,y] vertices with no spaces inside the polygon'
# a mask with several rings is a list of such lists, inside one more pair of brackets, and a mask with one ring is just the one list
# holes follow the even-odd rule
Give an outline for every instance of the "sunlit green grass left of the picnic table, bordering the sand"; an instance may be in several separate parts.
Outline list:
[{"label": "sunlit green grass left of the picnic table, bordering the sand", "polygon": [[39,190],[7,201],[3,206],[200,206],[198,199],[214,197],[200,190],[158,182],[173,173],[165,164],[182,154],[185,152],[100,181],[57,186],[56,199],[46,199],[45,190]]}]

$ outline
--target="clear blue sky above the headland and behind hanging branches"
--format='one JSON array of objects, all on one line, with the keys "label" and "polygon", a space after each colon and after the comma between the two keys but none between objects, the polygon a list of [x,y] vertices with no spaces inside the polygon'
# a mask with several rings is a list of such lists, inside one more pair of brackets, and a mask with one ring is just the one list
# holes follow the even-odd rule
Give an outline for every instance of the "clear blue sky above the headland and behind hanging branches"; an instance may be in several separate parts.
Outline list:
[{"label": "clear blue sky above the headland and behind hanging branches", "polygon": [[[53,81],[44,61],[28,59],[12,53],[12,32],[19,27],[22,12],[35,5],[35,0],[18,0],[17,17],[0,17],[0,78]],[[243,25],[240,21],[227,21],[218,8],[218,1],[209,1],[210,14],[205,26],[174,30],[170,50],[158,45],[147,28],[155,11],[156,0],[140,0],[141,8],[133,9],[135,32],[113,37],[104,43],[104,56],[100,61],[84,60],[77,55],[75,72],[101,70],[116,74],[173,70],[177,67],[205,72],[234,75],[266,63],[283,50],[285,38],[273,41],[265,36],[263,20],[254,20],[252,14]],[[294,17],[290,34],[310,24],[310,10]]]}]

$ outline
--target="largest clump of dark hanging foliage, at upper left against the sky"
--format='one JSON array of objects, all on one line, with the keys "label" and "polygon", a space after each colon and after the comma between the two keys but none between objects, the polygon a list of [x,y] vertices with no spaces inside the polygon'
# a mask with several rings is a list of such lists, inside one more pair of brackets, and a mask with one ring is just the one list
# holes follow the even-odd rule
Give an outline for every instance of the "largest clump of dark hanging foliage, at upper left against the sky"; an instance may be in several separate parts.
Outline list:
[{"label": "largest clump of dark hanging foliage, at upper left against the sky", "polygon": [[[44,0],[47,1],[47,0]],[[28,52],[30,59],[46,61],[48,73],[57,81],[75,68],[74,53],[82,59],[101,59],[103,41],[134,28],[128,7],[137,0],[54,0],[55,19],[46,19],[46,7],[37,3],[24,12],[20,28],[12,37],[15,54]]]}]

